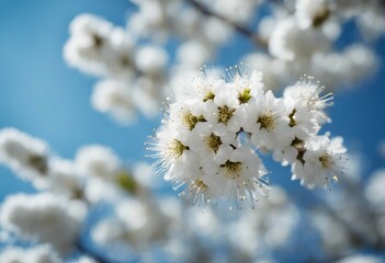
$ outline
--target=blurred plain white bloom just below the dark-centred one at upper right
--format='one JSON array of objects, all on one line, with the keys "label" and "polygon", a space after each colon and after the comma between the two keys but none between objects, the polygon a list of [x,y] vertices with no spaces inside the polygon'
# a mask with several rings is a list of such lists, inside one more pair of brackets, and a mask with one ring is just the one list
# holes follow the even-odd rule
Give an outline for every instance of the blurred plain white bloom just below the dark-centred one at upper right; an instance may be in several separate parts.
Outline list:
[{"label": "blurred plain white bloom just below the dark-centred one at upper right", "polygon": [[330,41],[313,28],[302,30],[292,18],[279,21],[269,39],[270,53],[282,60],[308,59],[329,48]]}]

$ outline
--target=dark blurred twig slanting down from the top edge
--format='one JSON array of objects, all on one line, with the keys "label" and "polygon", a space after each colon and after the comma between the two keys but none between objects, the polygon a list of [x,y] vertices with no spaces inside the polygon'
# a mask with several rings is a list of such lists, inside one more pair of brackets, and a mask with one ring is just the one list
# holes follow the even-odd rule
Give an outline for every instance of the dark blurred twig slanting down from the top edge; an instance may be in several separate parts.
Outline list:
[{"label": "dark blurred twig slanting down from the top edge", "polygon": [[223,22],[227,23],[228,25],[233,26],[239,34],[246,36],[249,38],[253,44],[256,44],[258,47],[268,50],[268,43],[265,43],[258,34],[256,34],[253,31],[237,24],[236,22],[230,21],[228,18],[215,13],[212,10],[210,10],[207,7],[199,2],[197,0],[186,0],[186,2],[191,3],[196,10],[199,10],[203,15],[206,16],[213,16],[218,20],[222,20]]}]

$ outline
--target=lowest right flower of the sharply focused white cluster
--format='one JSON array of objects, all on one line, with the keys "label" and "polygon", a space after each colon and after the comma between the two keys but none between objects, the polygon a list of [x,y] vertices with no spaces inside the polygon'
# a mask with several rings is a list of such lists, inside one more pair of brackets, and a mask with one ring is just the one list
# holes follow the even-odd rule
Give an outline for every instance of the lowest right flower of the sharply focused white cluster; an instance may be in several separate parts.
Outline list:
[{"label": "lowest right flower of the sharply focused white cluster", "polygon": [[292,180],[299,179],[301,183],[309,188],[329,186],[329,180],[336,180],[343,173],[346,151],[341,137],[310,137],[305,141],[298,160],[292,167]]}]

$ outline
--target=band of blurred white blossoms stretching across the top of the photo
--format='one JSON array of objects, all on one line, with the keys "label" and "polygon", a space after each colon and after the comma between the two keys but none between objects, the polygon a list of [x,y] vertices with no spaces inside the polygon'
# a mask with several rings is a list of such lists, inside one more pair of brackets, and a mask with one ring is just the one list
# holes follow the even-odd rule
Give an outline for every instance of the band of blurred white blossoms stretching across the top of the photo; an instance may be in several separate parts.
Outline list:
[{"label": "band of blurred white blossoms stretching across the top of the photo", "polygon": [[[70,66],[103,78],[94,87],[92,105],[122,124],[132,124],[137,111],[157,115],[169,87],[215,61],[217,50],[229,48],[237,34],[256,46],[239,61],[260,70],[269,89],[287,87],[307,73],[333,90],[354,85],[375,70],[377,56],[369,44],[385,33],[385,7],[376,0],[132,3],[137,8],[125,27],[92,14],[77,16],[64,48]],[[341,45],[349,24],[356,25],[360,38]]]}]

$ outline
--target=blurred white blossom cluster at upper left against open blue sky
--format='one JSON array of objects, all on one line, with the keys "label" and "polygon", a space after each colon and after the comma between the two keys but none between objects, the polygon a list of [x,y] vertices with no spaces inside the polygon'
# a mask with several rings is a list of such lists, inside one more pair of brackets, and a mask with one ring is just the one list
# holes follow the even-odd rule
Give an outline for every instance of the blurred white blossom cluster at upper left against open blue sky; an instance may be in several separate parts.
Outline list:
[{"label": "blurred white blossom cluster at upper left against open blue sky", "polygon": [[138,47],[124,28],[92,14],[77,16],[64,47],[67,62],[105,78],[94,88],[92,105],[122,124],[134,121],[136,108],[156,114],[168,54],[160,47]]}]

